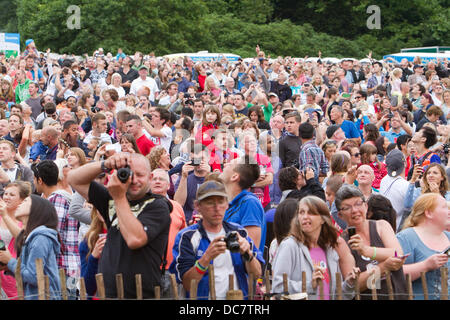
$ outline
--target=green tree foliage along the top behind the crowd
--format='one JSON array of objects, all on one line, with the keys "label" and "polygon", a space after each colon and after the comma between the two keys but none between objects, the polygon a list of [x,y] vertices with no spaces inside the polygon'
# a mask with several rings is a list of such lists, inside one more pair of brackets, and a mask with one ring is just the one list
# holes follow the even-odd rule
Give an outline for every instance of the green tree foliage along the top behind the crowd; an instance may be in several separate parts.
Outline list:
[{"label": "green tree foliage along the top behind the crowd", "polygon": [[[449,0],[0,0],[0,28],[33,38],[39,49],[92,53],[98,47],[157,55],[199,50],[254,56],[375,58],[402,47],[448,45]],[[369,30],[369,5],[381,29]],[[67,21],[80,8],[80,29]],[[15,14],[14,14],[15,13]]]}]

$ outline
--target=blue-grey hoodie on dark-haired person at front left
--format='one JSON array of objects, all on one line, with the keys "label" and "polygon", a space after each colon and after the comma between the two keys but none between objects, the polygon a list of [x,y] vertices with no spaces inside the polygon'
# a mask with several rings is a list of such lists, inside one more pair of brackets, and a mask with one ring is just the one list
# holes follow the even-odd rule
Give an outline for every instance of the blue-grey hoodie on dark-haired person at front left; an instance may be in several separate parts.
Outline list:
[{"label": "blue-grey hoodie on dark-haired person at front left", "polygon": [[[35,261],[39,258],[42,259],[44,265],[44,274],[50,280],[50,299],[61,299],[61,285],[56,260],[59,250],[58,233],[54,229],[39,226],[28,235],[20,254],[20,272],[23,279],[25,299],[38,299]],[[8,269],[11,272],[16,270],[16,266],[17,259],[11,259],[8,262]]]}]

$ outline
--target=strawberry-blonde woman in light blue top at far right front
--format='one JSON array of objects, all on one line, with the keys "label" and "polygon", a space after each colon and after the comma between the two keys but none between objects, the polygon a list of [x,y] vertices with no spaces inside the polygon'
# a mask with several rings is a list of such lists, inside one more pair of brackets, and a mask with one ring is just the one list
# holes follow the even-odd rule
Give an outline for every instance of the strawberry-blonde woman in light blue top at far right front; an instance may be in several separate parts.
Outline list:
[{"label": "strawberry-blonde woman in light blue top at far right front", "polygon": [[[403,230],[397,234],[403,252],[408,254],[403,270],[411,275],[417,300],[424,299],[421,272],[426,272],[429,299],[440,298],[440,268],[450,268],[450,232],[446,231],[449,227],[450,215],[445,198],[439,193],[426,193],[414,203]],[[448,288],[447,295],[450,283]]]}]

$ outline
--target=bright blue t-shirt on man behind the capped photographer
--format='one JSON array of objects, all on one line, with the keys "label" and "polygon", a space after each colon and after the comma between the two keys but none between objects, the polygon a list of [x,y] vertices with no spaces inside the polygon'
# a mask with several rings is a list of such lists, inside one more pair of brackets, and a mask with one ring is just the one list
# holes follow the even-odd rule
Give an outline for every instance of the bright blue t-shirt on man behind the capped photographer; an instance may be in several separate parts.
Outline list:
[{"label": "bright blue t-shirt on man behind the capped photographer", "polygon": [[242,190],[225,212],[224,219],[227,222],[235,222],[243,227],[261,227],[261,240],[258,249],[262,254],[266,243],[266,219],[264,209],[258,198],[248,190]]}]

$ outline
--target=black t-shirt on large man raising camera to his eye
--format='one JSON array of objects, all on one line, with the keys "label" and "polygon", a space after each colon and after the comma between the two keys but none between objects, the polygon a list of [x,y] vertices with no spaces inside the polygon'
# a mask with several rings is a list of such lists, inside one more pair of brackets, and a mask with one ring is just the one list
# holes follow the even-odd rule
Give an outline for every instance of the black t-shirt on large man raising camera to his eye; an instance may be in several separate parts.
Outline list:
[{"label": "black t-shirt on large man raising camera to his eye", "polygon": [[144,226],[148,237],[147,244],[136,250],[126,244],[118,226],[114,200],[103,185],[96,182],[90,184],[89,202],[100,212],[108,228],[98,264],[98,272],[103,274],[106,297],[117,297],[116,274],[121,273],[125,298],[136,299],[136,274],[142,275],[143,298],[154,298],[154,287],[160,286],[160,267],[167,248],[173,208],[170,202],[152,193],[129,202],[131,211]]}]

